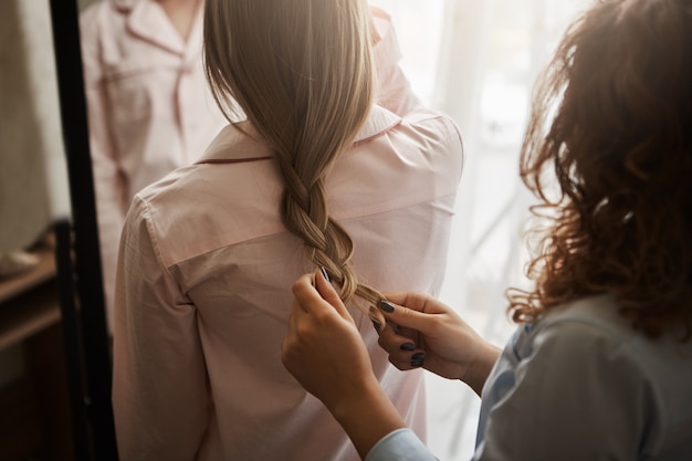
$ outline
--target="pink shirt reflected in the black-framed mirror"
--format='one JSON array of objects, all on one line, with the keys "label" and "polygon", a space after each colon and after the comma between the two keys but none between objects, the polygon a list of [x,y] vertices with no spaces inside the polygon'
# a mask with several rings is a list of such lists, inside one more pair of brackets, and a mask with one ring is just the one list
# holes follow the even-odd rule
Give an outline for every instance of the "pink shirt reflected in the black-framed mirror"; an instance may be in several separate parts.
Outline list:
[{"label": "pink shirt reflected in the black-framed mirror", "polygon": [[117,242],[133,196],[197,160],[228,122],[202,70],[201,8],[187,41],[154,0],[99,1],[80,28],[112,324]]}]

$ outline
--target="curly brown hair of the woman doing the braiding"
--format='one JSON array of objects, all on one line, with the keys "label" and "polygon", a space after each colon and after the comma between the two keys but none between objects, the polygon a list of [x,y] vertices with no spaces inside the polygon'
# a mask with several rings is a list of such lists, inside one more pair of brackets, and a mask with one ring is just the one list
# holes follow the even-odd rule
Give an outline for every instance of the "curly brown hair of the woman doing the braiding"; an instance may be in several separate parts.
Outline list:
[{"label": "curly brown hair of the woman doing the braiding", "polygon": [[[551,172],[552,175],[546,175]],[[534,94],[522,180],[546,227],[514,322],[594,294],[650,337],[692,329],[692,1],[600,0]]]}]

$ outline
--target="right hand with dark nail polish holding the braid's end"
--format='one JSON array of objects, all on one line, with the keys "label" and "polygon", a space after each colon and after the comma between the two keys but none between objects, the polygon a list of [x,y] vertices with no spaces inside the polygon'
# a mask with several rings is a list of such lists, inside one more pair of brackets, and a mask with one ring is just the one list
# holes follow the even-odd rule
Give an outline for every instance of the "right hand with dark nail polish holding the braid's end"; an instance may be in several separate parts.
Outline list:
[{"label": "right hand with dark nail polish holding the braid's end", "polygon": [[402,370],[422,366],[442,377],[461,379],[481,395],[500,349],[429,295],[388,293],[386,297],[389,301],[379,306],[386,321],[379,328],[379,344],[389,362]]}]

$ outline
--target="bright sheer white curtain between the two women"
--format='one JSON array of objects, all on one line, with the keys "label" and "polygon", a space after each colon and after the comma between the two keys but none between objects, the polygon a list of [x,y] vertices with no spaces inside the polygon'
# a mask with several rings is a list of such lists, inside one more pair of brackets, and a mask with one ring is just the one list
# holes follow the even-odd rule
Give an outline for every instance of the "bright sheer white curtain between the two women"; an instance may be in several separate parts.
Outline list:
[{"label": "bright sheer white curtain between the two women", "polygon": [[[442,301],[503,345],[504,290],[525,283],[521,227],[531,197],[518,150],[533,83],[556,40],[590,0],[370,0],[395,23],[417,93],[451,115],[466,157]],[[478,397],[429,376],[428,444],[444,461],[473,452]]]}]

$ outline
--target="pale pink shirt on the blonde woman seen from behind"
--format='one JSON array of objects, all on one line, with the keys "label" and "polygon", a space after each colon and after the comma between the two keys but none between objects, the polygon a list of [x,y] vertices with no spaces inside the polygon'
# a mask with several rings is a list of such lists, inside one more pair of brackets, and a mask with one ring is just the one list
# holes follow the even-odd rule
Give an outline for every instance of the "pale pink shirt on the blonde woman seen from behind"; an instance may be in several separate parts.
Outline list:
[{"label": "pale pink shirt on the blonde woman seen from behind", "polygon": [[[378,45],[390,56],[389,66],[379,63],[380,94],[401,116],[373,108],[326,178],[327,201],[354,240],[360,276],[382,291],[434,295],[444,277],[462,143],[450,118],[420,108],[387,36]],[[228,126],[198,164],[134,199],[114,324],[122,460],[359,459],[281,363],[291,285],[315,269],[281,222],[282,188],[271,151]],[[424,438],[422,371],[394,368],[367,313],[350,307],[382,387]]]}]

